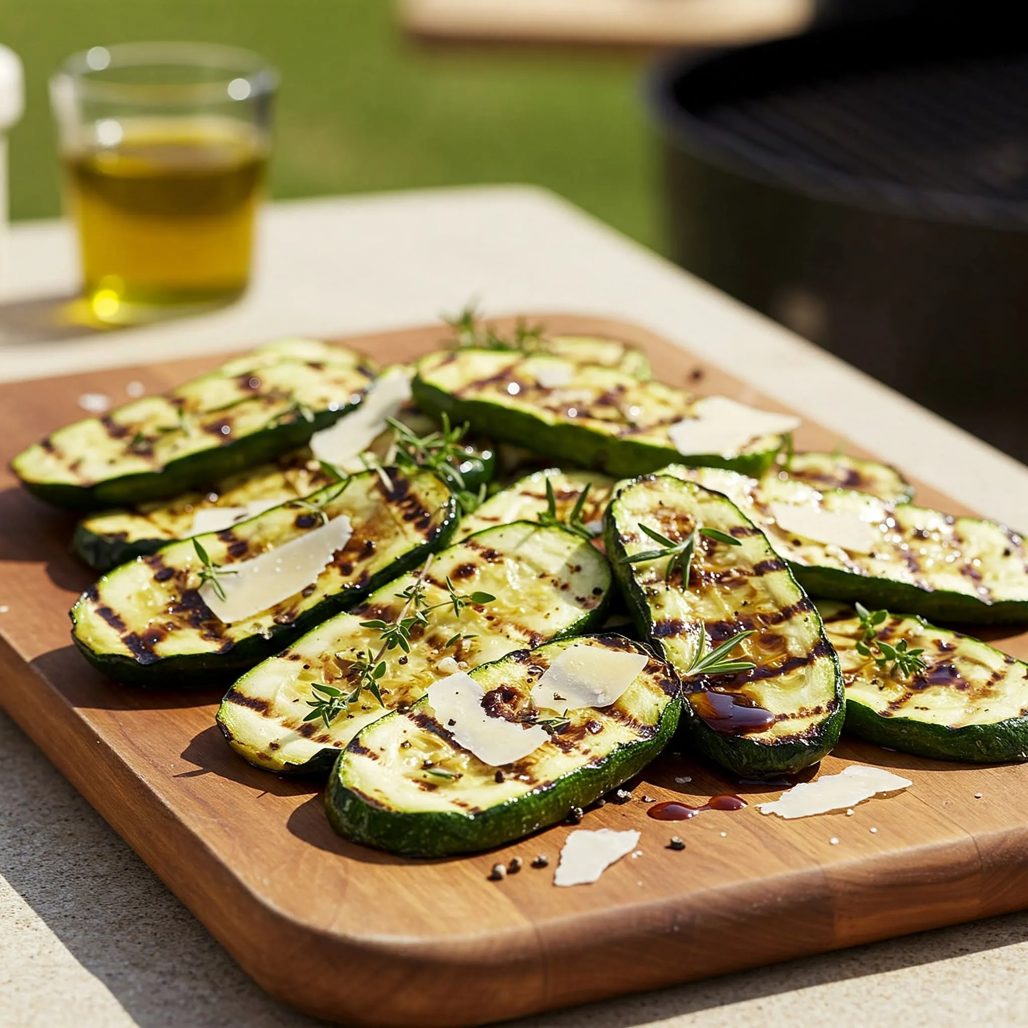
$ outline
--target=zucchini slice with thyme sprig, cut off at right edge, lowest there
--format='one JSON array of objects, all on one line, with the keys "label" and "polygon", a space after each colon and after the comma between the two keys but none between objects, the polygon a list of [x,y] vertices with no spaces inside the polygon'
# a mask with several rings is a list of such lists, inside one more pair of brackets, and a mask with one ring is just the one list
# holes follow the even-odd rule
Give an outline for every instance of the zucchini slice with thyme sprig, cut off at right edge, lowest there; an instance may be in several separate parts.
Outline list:
[{"label": "zucchini slice with thyme sprig, cut off at right edge, lowest there", "polygon": [[889,749],[944,761],[1028,760],[1028,664],[913,615],[890,614],[877,638],[923,650],[922,670],[903,675],[862,656],[852,609],[818,603],[846,688],[845,731]]}]

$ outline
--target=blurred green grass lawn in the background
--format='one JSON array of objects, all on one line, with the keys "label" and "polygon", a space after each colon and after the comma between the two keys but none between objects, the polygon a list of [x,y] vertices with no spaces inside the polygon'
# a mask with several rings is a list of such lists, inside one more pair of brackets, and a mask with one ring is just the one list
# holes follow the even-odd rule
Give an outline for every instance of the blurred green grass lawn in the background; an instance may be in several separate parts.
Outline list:
[{"label": "blurred green grass lawn in the background", "polygon": [[387,0],[0,0],[0,42],[28,80],[13,218],[60,210],[51,71],[74,50],[142,39],[233,43],[279,67],[274,196],[533,182],[659,243],[637,60],[426,48]]}]

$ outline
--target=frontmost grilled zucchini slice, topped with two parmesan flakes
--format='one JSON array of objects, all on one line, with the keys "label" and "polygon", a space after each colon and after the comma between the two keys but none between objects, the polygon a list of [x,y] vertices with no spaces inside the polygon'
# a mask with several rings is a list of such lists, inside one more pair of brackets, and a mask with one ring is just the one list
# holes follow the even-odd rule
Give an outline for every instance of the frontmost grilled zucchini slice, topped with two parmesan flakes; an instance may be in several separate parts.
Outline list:
[{"label": "frontmost grilled zucchini slice, topped with two parmesan flakes", "polygon": [[[650,656],[620,635],[592,635],[520,650],[471,675],[505,710],[530,713],[533,685],[573,644]],[[681,706],[674,671],[651,656],[616,703],[570,710],[566,728],[498,774],[453,740],[426,696],[379,718],[339,755],[325,793],[329,820],[346,839],[407,856],[500,846],[641,771],[674,734]]]}]

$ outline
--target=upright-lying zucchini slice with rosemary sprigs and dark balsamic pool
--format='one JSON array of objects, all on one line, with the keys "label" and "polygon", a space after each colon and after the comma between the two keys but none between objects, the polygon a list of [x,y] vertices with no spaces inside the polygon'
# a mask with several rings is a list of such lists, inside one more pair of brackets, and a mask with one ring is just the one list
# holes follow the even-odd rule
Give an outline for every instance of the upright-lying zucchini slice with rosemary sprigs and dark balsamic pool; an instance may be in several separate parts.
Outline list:
[{"label": "upright-lying zucchini slice with rosemary sprigs and dark balsamic pool", "polygon": [[[627,562],[655,549],[640,524],[675,542],[713,528],[739,545],[699,536],[684,583],[667,558]],[[832,749],[844,714],[839,661],[814,604],[730,500],[668,475],[641,478],[608,508],[604,538],[639,632],[683,680],[682,727],[697,750],[742,777],[765,778]],[[700,646],[713,650],[749,630],[732,656],[754,668],[690,676]]]}]

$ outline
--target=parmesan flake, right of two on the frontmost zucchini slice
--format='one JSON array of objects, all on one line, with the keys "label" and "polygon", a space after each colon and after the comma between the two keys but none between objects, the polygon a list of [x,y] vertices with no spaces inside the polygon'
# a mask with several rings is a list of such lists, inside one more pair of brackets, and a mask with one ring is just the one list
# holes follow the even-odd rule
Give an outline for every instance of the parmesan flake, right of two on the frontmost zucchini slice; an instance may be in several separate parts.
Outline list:
[{"label": "parmesan flake, right of two on the frontmost zucchini slice", "polygon": [[649,662],[644,653],[618,653],[577,644],[562,650],[531,690],[537,707],[575,710],[621,699]]}]

